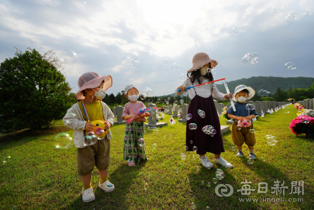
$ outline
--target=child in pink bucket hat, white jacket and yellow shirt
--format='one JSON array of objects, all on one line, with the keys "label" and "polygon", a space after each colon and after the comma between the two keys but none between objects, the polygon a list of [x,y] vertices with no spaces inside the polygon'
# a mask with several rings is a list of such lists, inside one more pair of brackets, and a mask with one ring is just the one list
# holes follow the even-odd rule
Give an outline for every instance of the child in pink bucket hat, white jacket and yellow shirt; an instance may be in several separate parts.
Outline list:
[{"label": "child in pink bucket hat, white jacket and yellow shirt", "polygon": [[[112,134],[110,127],[114,123],[114,115],[110,108],[102,101],[105,90],[112,86],[112,78],[109,75],[101,76],[96,72],[87,72],[78,79],[79,90],[75,94],[78,103],[74,104],[63,118],[63,123],[74,130],[73,138],[77,149],[78,174],[82,177],[83,202],[95,200],[91,186],[91,173],[96,166],[100,181],[98,186],[111,192],[114,185],[107,179],[108,166],[110,164],[110,139]],[[95,129],[90,123],[94,120],[105,121],[105,129],[108,130],[104,138],[98,138],[93,144],[86,144],[87,135]],[[84,137],[85,136],[85,137]],[[95,136],[95,135],[94,135]]]}]

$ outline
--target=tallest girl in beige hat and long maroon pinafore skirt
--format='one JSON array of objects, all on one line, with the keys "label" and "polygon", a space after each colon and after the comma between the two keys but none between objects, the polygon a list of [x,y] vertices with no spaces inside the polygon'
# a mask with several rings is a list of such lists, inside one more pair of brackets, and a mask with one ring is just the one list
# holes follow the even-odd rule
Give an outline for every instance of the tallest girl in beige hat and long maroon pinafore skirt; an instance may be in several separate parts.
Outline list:
[{"label": "tallest girl in beige hat and long maroon pinafore skirt", "polygon": [[[192,63],[193,66],[187,70],[187,79],[183,82],[182,86],[176,88],[177,95],[183,94],[184,91],[186,91],[187,86],[199,85],[205,83],[205,80],[213,81],[210,71],[217,65],[216,60],[209,59],[209,56],[206,53],[197,53],[194,55]],[[179,92],[178,89],[180,89],[181,92]],[[196,152],[200,155],[200,162],[206,168],[213,166],[213,164],[205,156],[206,152],[214,154],[214,161],[217,164],[226,168],[232,168],[233,165],[220,155],[221,152],[224,152],[225,150],[213,96],[223,101],[229,99],[227,94],[219,92],[218,89],[215,86],[213,87],[211,83],[189,90],[191,102],[188,106],[187,113],[191,114],[192,118],[186,121],[186,150],[193,151],[193,148],[196,147]],[[198,110],[205,112],[204,118],[198,114]],[[190,129],[190,123],[195,123],[197,128]],[[203,132],[202,128],[206,125],[213,126],[216,130],[216,134],[210,136]]]}]

